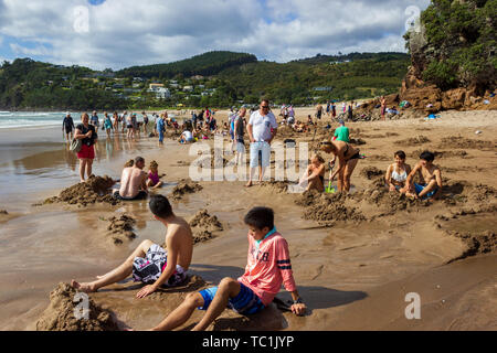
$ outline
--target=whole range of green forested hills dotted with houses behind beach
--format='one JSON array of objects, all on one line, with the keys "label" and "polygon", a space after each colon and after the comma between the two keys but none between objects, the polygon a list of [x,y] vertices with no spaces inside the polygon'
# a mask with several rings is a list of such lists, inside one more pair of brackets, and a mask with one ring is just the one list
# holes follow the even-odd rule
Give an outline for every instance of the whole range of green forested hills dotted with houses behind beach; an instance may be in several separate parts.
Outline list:
[{"label": "whole range of green forested hills dotted with houses behind beach", "polygon": [[[17,58],[0,66],[1,109],[148,109],[183,105],[313,105],[399,90],[404,53],[350,53],[275,63],[252,54],[209,52],[188,60],[113,72]],[[150,84],[162,84],[162,93]],[[157,87],[157,86],[156,86]],[[167,88],[167,89],[166,89]]]}]

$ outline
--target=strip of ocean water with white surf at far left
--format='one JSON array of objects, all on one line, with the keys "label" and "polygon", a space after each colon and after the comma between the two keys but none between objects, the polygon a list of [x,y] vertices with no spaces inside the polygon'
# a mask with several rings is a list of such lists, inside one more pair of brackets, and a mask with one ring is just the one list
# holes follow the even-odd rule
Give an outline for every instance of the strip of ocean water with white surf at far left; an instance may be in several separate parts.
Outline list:
[{"label": "strip of ocean water with white surf at far left", "polygon": [[[66,111],[0,111],[0,129],[61,126]],[[80,121],[78,114],[72,114],[73,120]]]}]

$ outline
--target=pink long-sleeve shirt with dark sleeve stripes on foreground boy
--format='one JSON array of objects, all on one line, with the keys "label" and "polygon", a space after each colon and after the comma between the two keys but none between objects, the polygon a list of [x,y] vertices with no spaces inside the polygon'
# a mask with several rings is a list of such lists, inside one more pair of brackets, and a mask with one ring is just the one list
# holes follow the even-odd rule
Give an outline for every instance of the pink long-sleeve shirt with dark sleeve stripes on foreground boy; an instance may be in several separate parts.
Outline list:
[{"label": "pink long-sleeve shirt with dark sleeve stripes on foreground boy", "polygon": [[239,281],[252,289],[264,306],[268,306],[278,293],[282,284],[288,291],[297,290],[288,243],[277,232],[261,242],[258,252],[255,242],[248,235],[247,265],[245,274]]}]

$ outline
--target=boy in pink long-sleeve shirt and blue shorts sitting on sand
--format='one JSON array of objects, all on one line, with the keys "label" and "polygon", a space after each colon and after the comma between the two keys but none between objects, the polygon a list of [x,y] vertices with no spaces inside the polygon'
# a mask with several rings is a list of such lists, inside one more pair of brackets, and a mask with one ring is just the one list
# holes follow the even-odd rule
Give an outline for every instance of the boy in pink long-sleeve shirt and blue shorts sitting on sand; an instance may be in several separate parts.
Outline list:
[{"label": "boy in pink long-sleeve shirt and blue shorts sitting on sand", "polygon": [[190,293],[154,331],[172,330],[183,324],[193,310],[207,310],[202,320],[192,329],[205,330],[224,309],[241,314],[254,314],[267,307],[278,293],[282,284],[292,293],[292,311],[304,314],[306,304],[297,292],[288,244],[274,226],[274,212],[267,207],[254,207],[245,215],[248,226],[248,256],[245,272],[237,280],[225,277],[219,287]]}]

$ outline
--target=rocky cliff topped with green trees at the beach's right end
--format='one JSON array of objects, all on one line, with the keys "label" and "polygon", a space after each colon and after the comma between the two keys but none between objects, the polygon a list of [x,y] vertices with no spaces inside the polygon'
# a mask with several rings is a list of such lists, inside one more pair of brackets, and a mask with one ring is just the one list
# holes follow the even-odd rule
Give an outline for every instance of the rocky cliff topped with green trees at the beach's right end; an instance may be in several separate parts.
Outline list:
[{"label": "rocky cliff topped with green trees at the beach's right end", "polygon": [[411,66],[399,100],[415,109],[497,109],[497,0],[433,0],[405,34]]}]

